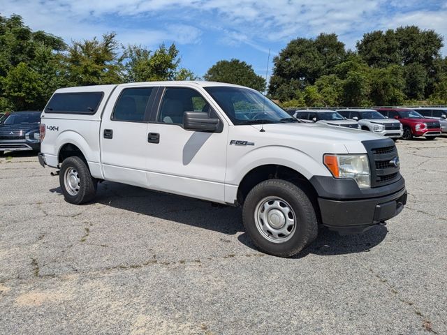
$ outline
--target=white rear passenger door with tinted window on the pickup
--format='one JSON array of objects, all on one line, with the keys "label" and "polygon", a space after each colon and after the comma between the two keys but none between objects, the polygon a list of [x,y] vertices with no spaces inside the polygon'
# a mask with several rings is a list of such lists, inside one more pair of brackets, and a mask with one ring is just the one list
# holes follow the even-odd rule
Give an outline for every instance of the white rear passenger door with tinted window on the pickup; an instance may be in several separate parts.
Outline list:
[{"label": "white rear passenger door with tinted window on the pickup", "polygon": [[147,187],[147,124],[157,87],[117,87],[101,122],[105,179]]}]

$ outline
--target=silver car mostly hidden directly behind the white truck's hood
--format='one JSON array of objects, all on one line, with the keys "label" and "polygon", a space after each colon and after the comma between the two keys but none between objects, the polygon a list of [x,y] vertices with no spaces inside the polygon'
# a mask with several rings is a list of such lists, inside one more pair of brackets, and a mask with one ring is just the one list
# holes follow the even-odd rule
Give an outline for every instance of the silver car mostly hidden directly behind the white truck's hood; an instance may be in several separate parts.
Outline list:
[{"label": "silver car mostly hidden directly behind the white truck's hood", "polygon": [[297,110],[293,117],[305,122],[360,129],[360,124],[357,121],[347,120],[335,110]]}]

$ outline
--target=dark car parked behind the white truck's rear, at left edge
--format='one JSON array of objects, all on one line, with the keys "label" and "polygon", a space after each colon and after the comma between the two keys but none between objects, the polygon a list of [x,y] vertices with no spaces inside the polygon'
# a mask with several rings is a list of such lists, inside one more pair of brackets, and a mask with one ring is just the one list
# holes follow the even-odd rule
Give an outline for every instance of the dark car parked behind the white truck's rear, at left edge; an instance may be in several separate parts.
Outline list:
[{"label": "dark car parked behind the white truck's rear, at left edge", "polygon": [[3,151],[40,150],[41,112],[12,112],[0,124],[0,154]]}]

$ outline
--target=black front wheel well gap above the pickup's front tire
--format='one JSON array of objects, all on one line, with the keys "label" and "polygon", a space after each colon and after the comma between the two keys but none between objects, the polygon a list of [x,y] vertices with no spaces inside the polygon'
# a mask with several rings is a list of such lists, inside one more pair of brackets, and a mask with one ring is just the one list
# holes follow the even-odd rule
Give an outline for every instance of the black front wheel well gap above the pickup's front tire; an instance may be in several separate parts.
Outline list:
[{"label": "black front wheel well gap above the pickup's front tire", "polygon": [[310,200],[314,202],[314,205],[318,206],[318,195],[310,181],[300,174],[300,172],[287,168],[284,165],[262,165],[247,173],[237,189],[237,202],[243,204],[245,198],[247,198],[247,195],[251,191],[251,188],[254,188],[257,184],[268,179],[291,181],[291,183],[302,188],[302,190],[307,193]]}]

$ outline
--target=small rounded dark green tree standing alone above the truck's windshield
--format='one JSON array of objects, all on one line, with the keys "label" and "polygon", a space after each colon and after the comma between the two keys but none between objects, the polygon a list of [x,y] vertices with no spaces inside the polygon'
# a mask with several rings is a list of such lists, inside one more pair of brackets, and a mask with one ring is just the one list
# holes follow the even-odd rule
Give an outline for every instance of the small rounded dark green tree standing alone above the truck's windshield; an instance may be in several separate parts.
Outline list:
[{"label": "small rounded dark green tree standing alone above the truck's windshield", "polygon": [[251,65],[239,59],[218,61],[203,77],[212,82],[228,82],[265,91],[265,79],[261,75],[256,75]]}]

